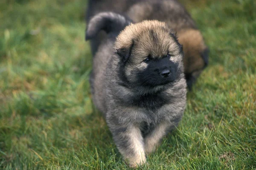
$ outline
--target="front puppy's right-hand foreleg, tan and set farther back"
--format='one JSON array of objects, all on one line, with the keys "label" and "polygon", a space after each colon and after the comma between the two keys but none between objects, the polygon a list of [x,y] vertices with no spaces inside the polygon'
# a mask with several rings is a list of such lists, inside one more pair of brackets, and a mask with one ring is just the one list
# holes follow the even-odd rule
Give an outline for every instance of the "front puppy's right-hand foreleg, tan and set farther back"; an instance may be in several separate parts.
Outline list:
[{"label": "front puppy's right-hand foreleg, tan and set farther back", "polygon": [[157,125],[144,139],[145,153],[154,152],[160,145],[161,139],[166,135],[171,125],[167,122],[162,122]]}]

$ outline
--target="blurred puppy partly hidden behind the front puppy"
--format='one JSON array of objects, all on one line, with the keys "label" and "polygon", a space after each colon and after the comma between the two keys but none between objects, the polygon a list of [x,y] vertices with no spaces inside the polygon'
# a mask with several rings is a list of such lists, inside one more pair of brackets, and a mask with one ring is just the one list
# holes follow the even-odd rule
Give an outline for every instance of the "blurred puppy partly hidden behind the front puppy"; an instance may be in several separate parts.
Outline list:
[{"label": "blurred puppy partly hidden behind the front puppy", "polygon": [[[159,20],[167,23],[177,33],[178,41],[183,45],[184,71],[189,89],[208,65],[209,49],[204,38],[195,21],[177,0],[90,0],[87,22],[91,16],[102,11],[125,14],[134,22]],[[100,32],[91,41],[93,54],[105,38],[106,34]]]}]

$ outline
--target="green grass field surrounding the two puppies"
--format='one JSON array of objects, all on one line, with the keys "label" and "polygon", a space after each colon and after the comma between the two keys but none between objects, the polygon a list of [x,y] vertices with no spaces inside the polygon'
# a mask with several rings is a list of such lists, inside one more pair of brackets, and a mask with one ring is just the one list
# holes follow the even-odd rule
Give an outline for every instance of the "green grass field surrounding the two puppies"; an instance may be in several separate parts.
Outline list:
[{"label": "green grass field surrounding the two puppies", "polygon": [[[183,0],[210,48],[177,130],[142,170],[256,169],[256,4]],[[91,102],[85,0],[1,0],[0,169],[126,169]]]}]

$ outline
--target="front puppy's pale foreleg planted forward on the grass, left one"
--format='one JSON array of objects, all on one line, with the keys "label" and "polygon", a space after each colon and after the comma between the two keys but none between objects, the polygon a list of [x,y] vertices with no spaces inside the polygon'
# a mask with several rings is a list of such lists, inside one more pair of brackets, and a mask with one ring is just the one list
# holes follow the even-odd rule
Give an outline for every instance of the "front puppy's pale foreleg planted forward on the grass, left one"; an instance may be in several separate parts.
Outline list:
[{"label": "front puppy's pale foreleg planted forward on the grass, left one", "polygon": [[119,152],[125,160],[128,160],[130,167],[137,167],[145,163],[143,136],[138,126],[112,126],[111,132]]}]

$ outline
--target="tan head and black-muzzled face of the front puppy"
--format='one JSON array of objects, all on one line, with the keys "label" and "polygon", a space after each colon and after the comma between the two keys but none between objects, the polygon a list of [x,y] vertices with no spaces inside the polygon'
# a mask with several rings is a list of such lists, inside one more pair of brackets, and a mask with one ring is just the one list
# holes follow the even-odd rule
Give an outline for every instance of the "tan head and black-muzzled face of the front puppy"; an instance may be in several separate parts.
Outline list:
[{"label": "tan head and black-muzzled face of the front puppy", "polygon": [[122,31],[116,40],[128,82],[154,88],[173,83],[183,74],[182,46],[159,21],[143,21]]}]

